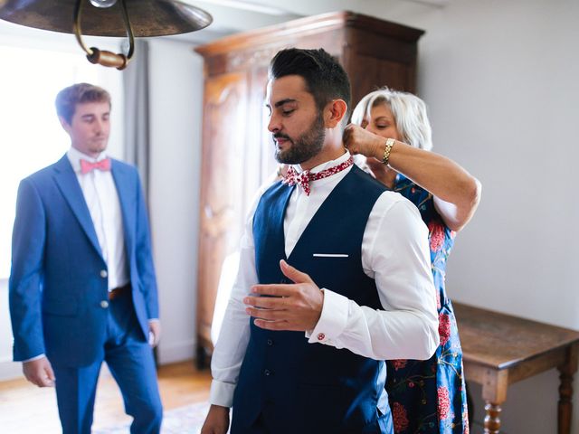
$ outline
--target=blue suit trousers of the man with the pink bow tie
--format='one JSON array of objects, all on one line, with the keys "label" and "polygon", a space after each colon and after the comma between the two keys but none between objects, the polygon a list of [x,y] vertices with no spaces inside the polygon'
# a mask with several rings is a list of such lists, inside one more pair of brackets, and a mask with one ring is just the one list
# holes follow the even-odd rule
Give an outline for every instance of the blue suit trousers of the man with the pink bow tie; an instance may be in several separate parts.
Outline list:
[{"label": "blue suit trousers of the man with the pink bow tie", "polygon": [[106,362],[119,384],[132,434],[161,429],[163,408],[153,351],[138,325],[130,294],[109,302],[104,358],[81,368],[53,365],[63,434],[90,434],[100,366]]}]

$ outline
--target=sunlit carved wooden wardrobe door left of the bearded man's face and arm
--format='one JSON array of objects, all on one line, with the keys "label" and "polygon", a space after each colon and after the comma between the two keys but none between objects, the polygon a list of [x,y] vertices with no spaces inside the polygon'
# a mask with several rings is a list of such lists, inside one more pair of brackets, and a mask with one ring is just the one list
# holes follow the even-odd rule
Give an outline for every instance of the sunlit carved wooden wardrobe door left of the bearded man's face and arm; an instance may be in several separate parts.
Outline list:
[{"label": "sunlit carved wooden wardrobe door left of the bearded man's face and arm", "polygon": [[[217,288],[223,259],[242,234],[241,201],[243,146],[247,119],[247,81],[244,74],[230,73],[205,81],[203,164],[201,168],[201,219],[198,285]],[[214,291],[199,291],[200,318],[213,316]],[[198,322],[199,344],[211,347],[211,322]],[[201,354],[200,354],[201,355]]]}]

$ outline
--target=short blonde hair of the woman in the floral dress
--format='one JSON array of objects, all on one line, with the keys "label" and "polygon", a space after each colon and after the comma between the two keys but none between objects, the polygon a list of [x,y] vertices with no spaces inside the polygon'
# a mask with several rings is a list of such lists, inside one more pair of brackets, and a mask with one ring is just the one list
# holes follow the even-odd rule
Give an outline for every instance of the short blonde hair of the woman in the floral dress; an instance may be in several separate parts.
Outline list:
[{"label": "short blonde hair of the woman in the floral dress", "polygon": [[352,113],[352,123],[362,125],[364,118],[380,104],[387,105],[394,115],[396,128],[404,143],[430,151],[432,127],[422,99],[408,92],[390,90],[386,87],[368,93]]}]

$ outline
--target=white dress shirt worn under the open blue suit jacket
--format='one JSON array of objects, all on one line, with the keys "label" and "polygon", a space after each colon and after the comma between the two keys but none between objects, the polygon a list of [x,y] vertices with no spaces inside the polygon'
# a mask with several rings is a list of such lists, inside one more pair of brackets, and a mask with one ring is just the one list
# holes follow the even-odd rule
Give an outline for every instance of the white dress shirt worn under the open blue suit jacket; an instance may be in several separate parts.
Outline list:
[{"label": "white dress shirt worn under the open blue suit jacket", "polygon": [[115,180],[109,170],[94,169],[88,174],[81,172],[81,159],[95,163],[107,156],[103,152],[97,158],[92,158],[74,147],[69,149],[67,156],[81,184],[82,195],[99,239],[100,251],[107,263],[109,290],[122,287],[128,283],[129,278],[123,216]]}]

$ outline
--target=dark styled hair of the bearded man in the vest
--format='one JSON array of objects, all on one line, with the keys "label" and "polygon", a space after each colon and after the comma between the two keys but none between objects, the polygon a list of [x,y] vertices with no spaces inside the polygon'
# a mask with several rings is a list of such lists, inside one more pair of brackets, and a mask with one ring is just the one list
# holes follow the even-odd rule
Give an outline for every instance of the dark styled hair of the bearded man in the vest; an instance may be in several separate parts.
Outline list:
[{"label": "dark styled hair of the bearded man in the vest", "polygon": [[270,80],[299,75],[306,81],[307,90],[314,96],[319,110],[332,99],[344,99],[349,113],[350,80],[337,59],[322,48],[281,50],[271,59],[269,75]]}]

